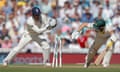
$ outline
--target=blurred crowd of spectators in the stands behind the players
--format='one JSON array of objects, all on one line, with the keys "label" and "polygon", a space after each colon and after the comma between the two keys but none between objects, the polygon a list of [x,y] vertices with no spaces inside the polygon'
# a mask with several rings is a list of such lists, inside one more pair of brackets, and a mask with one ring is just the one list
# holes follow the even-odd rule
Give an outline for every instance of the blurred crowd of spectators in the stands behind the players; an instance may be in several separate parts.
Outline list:
[{"label": "blurred crowd of spectators in the stands behind the players", "polygon": [[[115,26],[120,35],[120,0],[0,0],[0,53],[8,53],[19,43],[26,20],[31,16],[30,9],[35,6],[57,19],[57,27],[48,33],[48,41],[53,48],[55,34],[60,35],[65,53],[87,53],[92,45],[95,33],[87,28],[78,39],[71,41],[72,32],[82,23],[91,24],[101,18],[106,21],[106,29],[109,25]],[[30,42],[21,52],[40,53],[42,49]],[[115,44],[114,53],[120,53],[120,40]]]}]

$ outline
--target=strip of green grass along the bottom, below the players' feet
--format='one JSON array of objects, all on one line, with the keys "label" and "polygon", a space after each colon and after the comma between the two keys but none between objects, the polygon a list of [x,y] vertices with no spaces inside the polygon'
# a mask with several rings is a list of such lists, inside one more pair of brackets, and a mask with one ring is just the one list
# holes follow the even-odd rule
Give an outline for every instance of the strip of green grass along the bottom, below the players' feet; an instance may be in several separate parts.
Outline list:
[{"label": "strip of green grass along the bottom, below the players' feet", "polygon": [[41,65],[9,65],[0,66],[0,72],[120,72],[120,65],[111,65],[109,68],[102,66],[90,66],[83,68],[83,65],[63,65],[62,68],[44,67]]}]

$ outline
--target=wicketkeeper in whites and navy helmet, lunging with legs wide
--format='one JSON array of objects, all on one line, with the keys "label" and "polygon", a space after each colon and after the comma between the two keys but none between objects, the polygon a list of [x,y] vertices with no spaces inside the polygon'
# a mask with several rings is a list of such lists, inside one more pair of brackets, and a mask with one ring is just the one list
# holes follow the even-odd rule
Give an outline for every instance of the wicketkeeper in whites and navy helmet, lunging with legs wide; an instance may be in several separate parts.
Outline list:
[{"label": "wicketkeeper in whites and navy helmet, lunging with legs wide", "polygon": [[24,32],[19,44],[3,60],[4,66],[7,66],[14,56],[30,41],[35,41],[42,47],[44,64],[49,59],[50,46],[47,41],[47,31],[56,26],[56,20],[42,14],[37,7],[33,7],[31,12],[32,16],[27,19],[27,31]]}]

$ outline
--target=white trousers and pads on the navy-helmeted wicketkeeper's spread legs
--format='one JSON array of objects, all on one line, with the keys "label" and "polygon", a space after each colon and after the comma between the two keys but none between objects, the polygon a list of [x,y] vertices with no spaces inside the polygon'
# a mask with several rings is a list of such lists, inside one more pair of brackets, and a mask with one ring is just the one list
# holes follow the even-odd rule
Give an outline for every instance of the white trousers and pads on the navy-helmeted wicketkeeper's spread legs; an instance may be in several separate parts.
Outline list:
[{"label": "white trousers and pads on the navy-helmeted wicketkeeper's spread legs", "polygon": [[[10,53],[8,54],[8,56],[3,60],[3,62],[7,61],[8,63],[14,58],[14,56],[24,48],[25,45],[27,45],[30,41],[36,41],[44,50],[43,50],[43,62],[45,63],[48,58],[49,58],[49,44],[47,41],[40,39],[38,37],[39,35],[29,35],[28,33],[24,33],[24,35],[22,36],[19,44],[13,48]],[[45,51],[48,50],[48,51]]]}]

